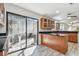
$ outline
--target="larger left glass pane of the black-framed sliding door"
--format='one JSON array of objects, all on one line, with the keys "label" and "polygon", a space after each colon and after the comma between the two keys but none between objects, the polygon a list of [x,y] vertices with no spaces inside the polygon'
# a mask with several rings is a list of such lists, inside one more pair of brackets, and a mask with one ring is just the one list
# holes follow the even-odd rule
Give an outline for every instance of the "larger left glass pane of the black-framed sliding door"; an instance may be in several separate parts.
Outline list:
[{"label": "larger left glass pane of the black-framed sliding door", "polygon": [[26,18],[8,13],[8,47],[9,52],[26,46]]}]

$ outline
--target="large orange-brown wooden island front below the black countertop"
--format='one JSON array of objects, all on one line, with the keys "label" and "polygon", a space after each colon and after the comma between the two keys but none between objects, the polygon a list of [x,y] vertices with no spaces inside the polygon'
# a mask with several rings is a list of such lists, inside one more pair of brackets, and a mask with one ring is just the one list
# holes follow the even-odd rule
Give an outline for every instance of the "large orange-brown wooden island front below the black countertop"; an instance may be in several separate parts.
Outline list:
[{"label": "large orange-brown wooden island front below the black countertop", "polygon": [[68,50],[68,37],[41,34],[41,45],[45,45],[65,54]]}]

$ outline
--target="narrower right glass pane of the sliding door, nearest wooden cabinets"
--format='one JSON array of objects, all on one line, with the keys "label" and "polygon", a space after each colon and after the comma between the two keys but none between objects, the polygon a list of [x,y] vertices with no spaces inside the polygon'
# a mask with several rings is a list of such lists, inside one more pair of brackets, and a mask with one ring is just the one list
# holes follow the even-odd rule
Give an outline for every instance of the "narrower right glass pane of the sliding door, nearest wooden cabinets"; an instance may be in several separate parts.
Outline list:
[{"label": "narrower right glass pane of the sliding door, nearest wooden cabinets", "polygon": [[27,47],[37,45],[37,20],[27,18]]}]

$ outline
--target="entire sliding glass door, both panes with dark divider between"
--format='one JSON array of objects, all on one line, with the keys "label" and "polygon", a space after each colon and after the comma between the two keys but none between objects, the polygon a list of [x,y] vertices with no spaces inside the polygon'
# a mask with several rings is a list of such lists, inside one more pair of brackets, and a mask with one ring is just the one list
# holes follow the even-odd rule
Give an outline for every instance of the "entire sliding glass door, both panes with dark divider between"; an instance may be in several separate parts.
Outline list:
[{"label": "entire sliding glass door, both panes with dark divider between", "polygon": [[8,52],[37,45],[37,19],[7,13]]}]

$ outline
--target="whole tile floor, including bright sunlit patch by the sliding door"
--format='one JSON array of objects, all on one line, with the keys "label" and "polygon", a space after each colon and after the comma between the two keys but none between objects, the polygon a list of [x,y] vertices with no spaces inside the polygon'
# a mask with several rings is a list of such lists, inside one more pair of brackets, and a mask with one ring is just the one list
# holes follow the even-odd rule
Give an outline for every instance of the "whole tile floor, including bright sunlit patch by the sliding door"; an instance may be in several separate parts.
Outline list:
[{"label": "whole tile floor, including bright sunlit patch by the sliding door", "polygon": [[[21,51],[17,53],[10,54],[8,56],[23,56],[18,55]],[[68,43],[68,51],[66,54],[62,54],[54,49],[48,48],[46,46],[38,45],[33,46],[24,50],[24,56],[78,56],[79,55],[79,44],[78,43]]]}]

